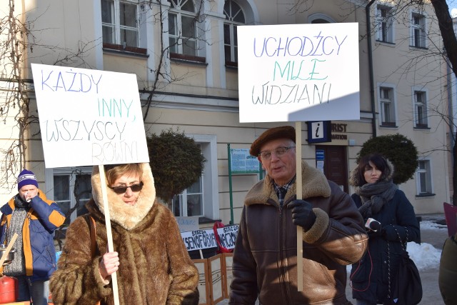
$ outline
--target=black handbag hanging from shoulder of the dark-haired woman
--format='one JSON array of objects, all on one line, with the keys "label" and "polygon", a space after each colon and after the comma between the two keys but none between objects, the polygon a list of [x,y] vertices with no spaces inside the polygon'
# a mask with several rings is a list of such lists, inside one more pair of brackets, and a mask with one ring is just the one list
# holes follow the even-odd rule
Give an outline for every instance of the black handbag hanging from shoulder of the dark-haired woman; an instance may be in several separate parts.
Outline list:
[{"label": "black handbag hanging from shoulder of the dark-haired woman", "polygon": [[[395,228],[395,227],[394,227]],[[406,229],[406,228],[405,228]],[[391,280],[390,254],[387,242],[388,253],[388,301],[386,304],[395,305],[416,305],[422,299],[422,282],[421,276],[414,261],[409,257],[406,251],[406,243],[403,244],[400,234],[395,229],[398,240],[401,243],[401,259],[398,265],[396,278]],[[406,241],[408,241],[408,229],[406,229]]]}]

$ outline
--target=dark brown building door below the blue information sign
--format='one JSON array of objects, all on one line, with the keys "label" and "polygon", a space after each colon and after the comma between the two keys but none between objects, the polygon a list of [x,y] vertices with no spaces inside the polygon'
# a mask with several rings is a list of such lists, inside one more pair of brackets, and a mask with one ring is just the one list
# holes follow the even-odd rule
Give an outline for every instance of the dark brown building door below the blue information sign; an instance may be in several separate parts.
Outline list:
[{"label": "dark brown building door below the blue information sign", "polygon": [[316,146],[316,151],[323,151],[323,174],[348,193],[346,146]]}]

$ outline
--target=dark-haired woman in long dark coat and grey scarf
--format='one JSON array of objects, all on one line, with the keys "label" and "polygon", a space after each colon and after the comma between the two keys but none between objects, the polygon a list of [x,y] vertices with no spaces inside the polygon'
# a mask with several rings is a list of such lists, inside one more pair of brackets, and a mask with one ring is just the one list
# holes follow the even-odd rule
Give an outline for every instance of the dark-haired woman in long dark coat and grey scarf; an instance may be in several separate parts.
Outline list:
[{"label": "dark-haired woman in long dark coat and grey scarf", "polygon": [[352,297],[357,305],[384,304],[391,297],[401,258],[401,243],[421,240],[413,206],[393,184],[393,166],[380,154],[364,156],[351,172],[351,197],[363,219],[376,220],[368,231],[368,250],[351,269]]}]

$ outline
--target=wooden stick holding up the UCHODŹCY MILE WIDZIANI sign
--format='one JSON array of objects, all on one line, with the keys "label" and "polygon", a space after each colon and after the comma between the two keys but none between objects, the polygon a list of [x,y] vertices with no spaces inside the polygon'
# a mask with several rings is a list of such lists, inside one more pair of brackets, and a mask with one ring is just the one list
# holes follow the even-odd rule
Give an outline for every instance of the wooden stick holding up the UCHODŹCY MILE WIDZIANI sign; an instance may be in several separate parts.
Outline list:
[{"label": "wooden stick holding up the UCHOD\u0179CY MILE WIDZIANI sign", "polygon": [[[297,199],[303,199],[301,189],[301,122],[295,122],[295,146],[296,146],[296,195]],[[297,226],[297,289],[303,291],[303,229]]]}]

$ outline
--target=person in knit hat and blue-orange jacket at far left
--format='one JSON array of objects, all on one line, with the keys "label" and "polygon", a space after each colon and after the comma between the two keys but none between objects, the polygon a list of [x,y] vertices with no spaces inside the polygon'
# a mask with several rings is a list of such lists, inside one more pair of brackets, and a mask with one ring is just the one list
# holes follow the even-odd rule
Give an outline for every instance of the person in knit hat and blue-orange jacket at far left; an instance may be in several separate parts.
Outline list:
[{"label": "person in knit hat and blue-orange jacket at far left", "polygon": [[49,301],[49,278],[56,270],[53,232],[64,224],[65,216],[59,205],[38,189],[33,172],[21,171],[17,189],[19,193],[0,208],[0,243],[8,245],[12,236],[18,235],[14,259],[0,266],[0,271],[18,279],[16,301],[45,305]]}]

